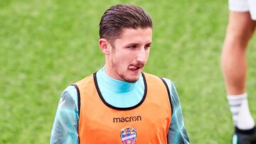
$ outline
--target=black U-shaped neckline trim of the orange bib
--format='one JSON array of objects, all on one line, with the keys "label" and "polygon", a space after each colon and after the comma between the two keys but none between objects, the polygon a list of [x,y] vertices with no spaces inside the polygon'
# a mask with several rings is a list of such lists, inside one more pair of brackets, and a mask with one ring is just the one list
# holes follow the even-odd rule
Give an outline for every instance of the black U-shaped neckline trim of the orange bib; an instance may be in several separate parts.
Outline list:
[{"label": "black U-shaped neckline trim of the orange bib", "polygon": [[127,110],[131,110],[131,109],[135,109],[135,108],[137,108],[138,106],[140,106],[140,105],[143,103],[143,101],[145,100],[145,98],[146,98],[146,92],[147,92],[147,87],[146,87],[146,79],[145,79],[145,76],[144,76],[143,73],[142,73],[142,77],[143,77],[144,87],[145,87],[145,88],[144,88],[144,95],[143,95],[142,100],[139,101],[139,104],[136,104],[135,106],[126,107],[126,108],[119,108],[119,107],[116,107],[116,106],[112,106],[111,104],[108,104],[107,101],[105,101],[105,99],[103,98],[103,96],[102,96],[102,94],[101,94],[101,92],[100,92],[99,86],[98,86],[98,84],[97,84],[96,72],[93,73],[93,79],[94,79],[94,82],[95,82],[95,87],[96,87],[96,89],[97,89],[97,93],[99,94],[100,99],[102,100],[102,102],[103,102],[106,106],[110,107],[111,109],[117,109],[117,110],[121,110],[121,111],[127,111]]}]

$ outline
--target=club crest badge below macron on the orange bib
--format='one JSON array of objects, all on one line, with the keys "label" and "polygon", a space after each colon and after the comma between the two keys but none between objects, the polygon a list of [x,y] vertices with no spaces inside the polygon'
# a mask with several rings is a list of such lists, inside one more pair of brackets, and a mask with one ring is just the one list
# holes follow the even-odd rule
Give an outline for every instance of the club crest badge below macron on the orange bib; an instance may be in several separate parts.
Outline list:
[{"label": "club crest badge below macron on the orange bib", "polygon": [[132,144],[137,138],[137,131],[132,127],[122,128],[121,139],[124,144]]}]

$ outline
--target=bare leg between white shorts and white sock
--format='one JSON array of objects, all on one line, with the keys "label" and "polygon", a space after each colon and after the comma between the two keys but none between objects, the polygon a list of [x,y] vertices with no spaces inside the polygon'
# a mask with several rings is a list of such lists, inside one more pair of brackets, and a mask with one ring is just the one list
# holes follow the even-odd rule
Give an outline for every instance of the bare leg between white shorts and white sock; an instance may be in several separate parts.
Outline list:
[{"label": "bare leg between white shorts and white sock", "polygon": [[225,43],[222,51],[222,70],[228,94],[245,92],[246,49],[255,30],[249,12],[230,12]]}]

